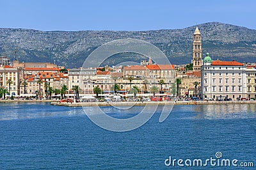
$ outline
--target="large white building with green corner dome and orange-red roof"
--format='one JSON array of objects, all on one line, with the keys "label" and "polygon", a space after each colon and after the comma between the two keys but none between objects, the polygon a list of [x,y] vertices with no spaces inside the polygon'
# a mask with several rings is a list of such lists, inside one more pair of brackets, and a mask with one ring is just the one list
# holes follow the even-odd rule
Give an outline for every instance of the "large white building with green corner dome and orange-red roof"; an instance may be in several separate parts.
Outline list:
[{"label": "large white building with green corner dome and orange-red roof", "polygon": [[209,53],[204,58],[201,72],[202,97],[244,98],[246,91],[246,67],[237,61],[212,61]]}]

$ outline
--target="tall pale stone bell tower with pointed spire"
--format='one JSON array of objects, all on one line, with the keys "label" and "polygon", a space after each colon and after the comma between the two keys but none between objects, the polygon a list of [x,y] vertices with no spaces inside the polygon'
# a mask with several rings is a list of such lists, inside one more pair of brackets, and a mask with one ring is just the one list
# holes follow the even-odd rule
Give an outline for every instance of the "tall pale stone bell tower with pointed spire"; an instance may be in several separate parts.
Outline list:
[{"label": "tall pale stone bell tower with pointed spire", "polygon": [[193,72],[200,72],[202,66],[202,42],[198,27],[196,27],[193,38]]}]

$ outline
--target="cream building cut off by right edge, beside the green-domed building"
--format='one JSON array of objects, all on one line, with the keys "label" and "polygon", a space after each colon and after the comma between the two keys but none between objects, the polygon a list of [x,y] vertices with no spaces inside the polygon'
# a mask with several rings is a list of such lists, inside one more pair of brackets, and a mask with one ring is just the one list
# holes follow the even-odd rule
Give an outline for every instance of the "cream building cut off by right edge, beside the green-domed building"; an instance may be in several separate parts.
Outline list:
[{"label": "cream building cut off by right edge, beside the green-domed building", "polygon": [[247,97],[256,98],[256,66],[246,66]]}]

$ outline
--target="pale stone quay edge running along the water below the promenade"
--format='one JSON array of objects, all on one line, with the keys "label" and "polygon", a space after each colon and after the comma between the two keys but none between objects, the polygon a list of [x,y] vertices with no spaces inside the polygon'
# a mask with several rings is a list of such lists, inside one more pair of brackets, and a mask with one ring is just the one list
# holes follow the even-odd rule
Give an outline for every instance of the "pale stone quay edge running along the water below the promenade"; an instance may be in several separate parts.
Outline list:
[{"label": "pale stone quay edge running along the water below the promenade", "polygon": [[143,105],[211,105],[211,104],[256,104],[256,101],[170,101],[170,102],[84,102],[60,103],[51,102],[51,105],[67,107],[92,107],[92,106],[143,106]]}]

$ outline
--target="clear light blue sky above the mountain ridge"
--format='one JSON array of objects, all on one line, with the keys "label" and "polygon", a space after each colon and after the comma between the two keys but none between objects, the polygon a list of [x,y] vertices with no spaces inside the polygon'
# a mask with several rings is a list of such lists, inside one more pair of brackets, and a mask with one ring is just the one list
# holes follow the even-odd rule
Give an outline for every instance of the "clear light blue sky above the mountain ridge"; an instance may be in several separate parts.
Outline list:
[{"label": "clear light blue sky above the mountain ridge", "polygon": [[222,22],[256,29],[254,0],[0,0],[0,27],[145,31]]}]

